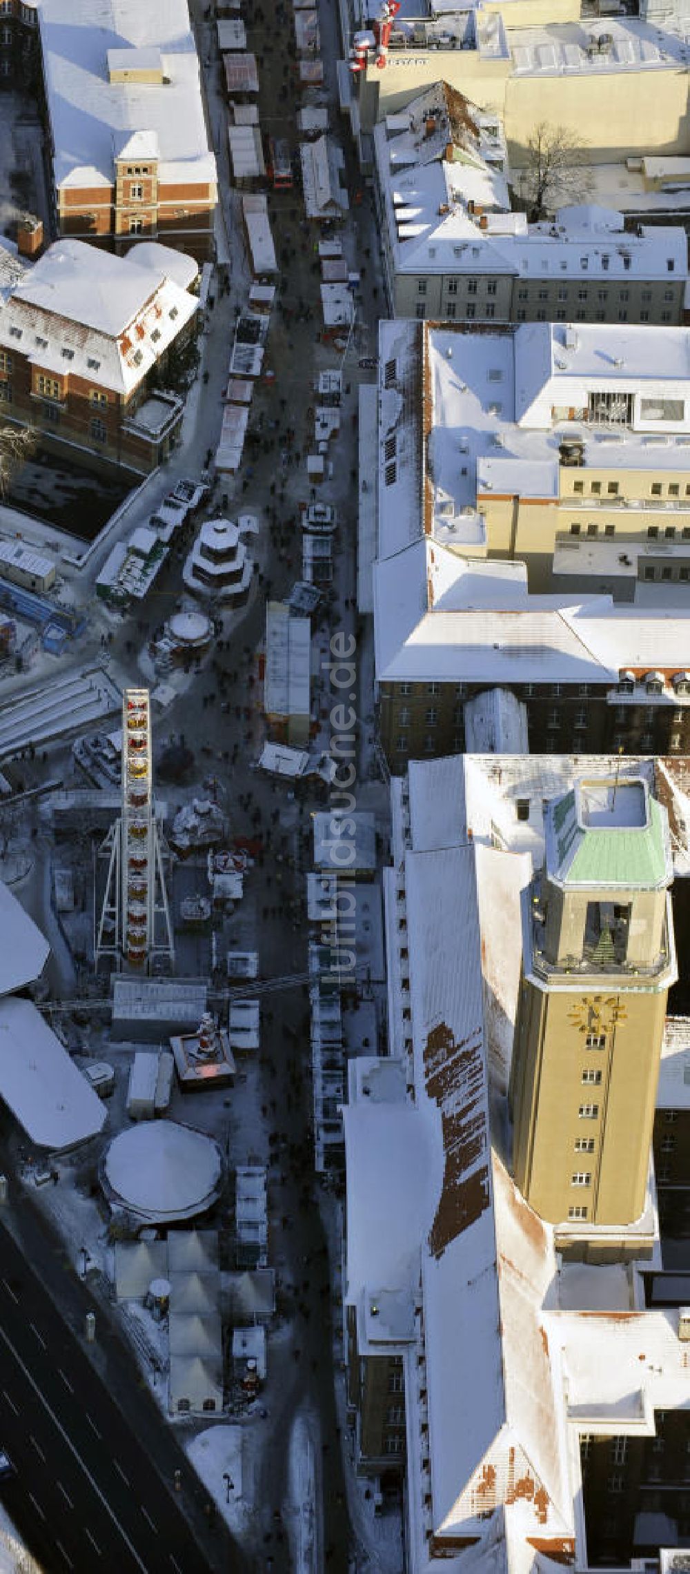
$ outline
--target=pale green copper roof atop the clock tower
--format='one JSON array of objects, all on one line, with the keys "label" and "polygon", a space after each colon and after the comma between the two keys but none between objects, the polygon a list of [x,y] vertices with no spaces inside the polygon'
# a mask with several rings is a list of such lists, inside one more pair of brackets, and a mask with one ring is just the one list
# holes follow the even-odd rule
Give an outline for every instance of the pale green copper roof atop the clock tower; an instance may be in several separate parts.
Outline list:
[{"label": "pale green copper roof atop the clock tower", "polygon": [[[641,784],[625,782],[618,789],[619,806],[625,789]],[[595,814],[588,823],[580,793],[567,792],[553,807],[548,836],[548,874],[562,885],[622,886],[625,889],[658,888],[671,881],[665,811],[649,793],[640,823],[625,823],[624,812]],[[622,807],[622,806],[621,806]],[[632,817],[635,818],[635,815]],[[610,822],[610,823],[607,823]]]}]

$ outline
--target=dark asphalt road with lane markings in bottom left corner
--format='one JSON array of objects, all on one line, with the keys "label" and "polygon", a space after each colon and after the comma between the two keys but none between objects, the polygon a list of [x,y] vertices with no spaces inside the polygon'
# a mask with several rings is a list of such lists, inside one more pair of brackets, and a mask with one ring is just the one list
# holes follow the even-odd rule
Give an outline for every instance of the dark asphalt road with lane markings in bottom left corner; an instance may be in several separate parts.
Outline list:
[{"label": "dark asphalt road with lane markings in bottom left corner", "polygon": [[[99,1322],[102,1335],[102,1314]],[[46,1574],[239,1568],[219,1524],[213,1533],[217,1555],[208,1558],[200,1549],[178,1506],[164,1423],[159,1472],[95,1371],[83,1339],[55,1310],[2,1221],[0,1417],[0,1447],[14,1464],[0,1495]]]}]

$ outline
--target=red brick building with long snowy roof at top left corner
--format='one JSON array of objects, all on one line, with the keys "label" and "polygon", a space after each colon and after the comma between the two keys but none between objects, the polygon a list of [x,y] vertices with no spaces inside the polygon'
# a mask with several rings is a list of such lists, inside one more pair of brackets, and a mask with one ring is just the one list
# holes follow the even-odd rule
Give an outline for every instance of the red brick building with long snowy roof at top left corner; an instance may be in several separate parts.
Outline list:
[{"label": "red brick building with long snowy roof at top left corner", "polygon": [[[186,0],[44,0],[39,39],[61,235],[213,257],[216,161]],[[69,49],[65,33],[69,33]]]}]

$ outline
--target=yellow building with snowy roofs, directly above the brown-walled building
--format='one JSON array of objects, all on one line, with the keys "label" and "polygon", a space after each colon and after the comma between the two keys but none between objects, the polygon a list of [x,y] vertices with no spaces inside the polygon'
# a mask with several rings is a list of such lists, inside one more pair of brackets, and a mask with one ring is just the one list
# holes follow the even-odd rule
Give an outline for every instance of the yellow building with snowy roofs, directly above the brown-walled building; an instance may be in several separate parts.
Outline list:
[{"label": "yellow building with snowy roofs, directly above the brown-walled building", "polygon": [[690,582],[690,331],[477,302],[474,327],[380,326],[378,557],[427,537],[618,601]]}]

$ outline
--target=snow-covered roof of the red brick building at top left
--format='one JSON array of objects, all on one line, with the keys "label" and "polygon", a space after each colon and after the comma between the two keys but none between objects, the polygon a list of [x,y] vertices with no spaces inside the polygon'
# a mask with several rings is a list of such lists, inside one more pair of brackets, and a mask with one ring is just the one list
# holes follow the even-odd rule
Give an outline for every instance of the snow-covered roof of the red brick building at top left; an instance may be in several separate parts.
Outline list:
[{"label": "snow-covered roof of the red brick building at top left", "polygon": [[[214,187],[186,0],[83,0],[77,13],[71,0],[41,0],[38,20],[58,187],[110,186],[120,156],[158,156],[161,183]],[[109,50],[142,71],[151,49],[158,80],[153,60],[153,80],[110,80]]]}]

